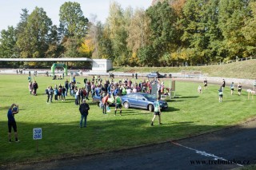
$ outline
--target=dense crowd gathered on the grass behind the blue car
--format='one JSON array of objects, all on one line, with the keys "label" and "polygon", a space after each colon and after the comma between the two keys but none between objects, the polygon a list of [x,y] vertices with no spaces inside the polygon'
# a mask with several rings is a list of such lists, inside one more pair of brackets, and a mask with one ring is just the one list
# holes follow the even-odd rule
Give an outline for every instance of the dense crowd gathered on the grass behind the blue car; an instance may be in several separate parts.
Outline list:
[{"label": "dense crowd gathered on the grass behind the blue car", "polygon": [[[118,81],[114,81],[114,79],[111,78],[110,80],[105,79],[103,81],[100,76],[93,76],[91,79],[85,77],[84,85],[81,87],[80,83],[76,81],[75,77],[73,77],[71,82],[66,79],[64,85],[59,84],[54,85],[54,87],[49,85],[46,88],[46,103],[50,104],[53,102],[53,98],[54,101],[65,101],[66,96],[69,94],[70,96],[74,97],[74,104],[80,106],[86,103],[86,100],[90,100],[89,97],[99,97],[100,107],[102,108],[103,114],[110,112],[110,105],[114,105],[114,115],[116,115],[119,109],[119,114],[121,116],[122,95],[137,92],[151,93],[152,85],[154,84],[157,85],[158,99],[160,99],[162,94],[169,92],[168,90],[165,90],[164,82],[156,78],[152,80],[133,82],[128,78],[119,79]],[[81,117],[81,122],[82,119],[86,120],[85,114],[83,114]]]}]

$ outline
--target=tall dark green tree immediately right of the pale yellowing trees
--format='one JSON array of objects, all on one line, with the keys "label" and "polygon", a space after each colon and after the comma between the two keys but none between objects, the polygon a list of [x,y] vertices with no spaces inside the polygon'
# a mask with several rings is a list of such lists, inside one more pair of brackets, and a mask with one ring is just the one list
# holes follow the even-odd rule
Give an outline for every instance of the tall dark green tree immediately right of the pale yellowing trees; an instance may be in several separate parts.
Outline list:
[{"label": "tall dark green tree immediately right of the pale yellowing trees", "polygon": [[[166,65],[166,62],[158,62],[166,59],[166,53],[171,53],[177,49],[177,16],[167,1],[158,2],[155,6],[150,6],[146,10],[147,16],[150,18],[150,46],[146,47],[151,60],[150,65]],[[142,50],[144,51],[144,50]],[[142,58],[142,56],[139,56]]]}]

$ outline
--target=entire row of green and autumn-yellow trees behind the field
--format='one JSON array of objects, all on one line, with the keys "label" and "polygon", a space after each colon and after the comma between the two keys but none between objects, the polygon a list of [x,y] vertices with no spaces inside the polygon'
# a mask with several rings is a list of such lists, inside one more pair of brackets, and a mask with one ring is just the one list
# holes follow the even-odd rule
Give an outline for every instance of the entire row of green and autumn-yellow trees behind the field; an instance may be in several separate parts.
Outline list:
[{"label": "entire row of green and autumn-yellow trees behind the field", "polygon": [[106,23],[78,2],[60,6],[60,26],[42,8],[22,9],[2,30],[0,55],[107,58],[114,65],[206,64],[256,54],[255,0],[161,0],[147,10],[110,3]]}]

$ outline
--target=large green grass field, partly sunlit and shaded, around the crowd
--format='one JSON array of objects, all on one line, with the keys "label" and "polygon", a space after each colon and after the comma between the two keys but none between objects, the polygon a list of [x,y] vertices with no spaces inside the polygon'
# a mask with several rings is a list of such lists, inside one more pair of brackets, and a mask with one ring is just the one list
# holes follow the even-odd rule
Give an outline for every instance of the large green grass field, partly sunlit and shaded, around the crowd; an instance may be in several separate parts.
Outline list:
[{"label": "large green grass field, partly sunlit and shaded, around the crowd", "polygon": [[[83,86],[83,78],[77,81]],[[95,103],[88,101],[90,112],[87,128],[79,128],[80,113],[74,98],[46,104],[48,85],[64,84],[51,77],[36,77],[38,96],[28,90],[26,75],[0,75],[0,164],[49,160],[67,156],[80,156],[97,152],[110,152],[122,148],[154,144],[194,136],[255,117],[255,100],[248,100],[246,90],[242,96],[224,91],[223,102],[218,102],[218,85],[209,85],[198,94],[198,83],[176,81],[177,98],[168,100],[169,109],[162,113],[163,125],[153,113],[141,109],[123,109],[122,117],[111,113],[103,115]],[[166,81],[166,85],[170,81]],[[12,103],[18,103],[20,112],[15,115],[19,143],[9,143],[6,113]],[[42,128],[42,140],[33,140],[33,128]]]}]

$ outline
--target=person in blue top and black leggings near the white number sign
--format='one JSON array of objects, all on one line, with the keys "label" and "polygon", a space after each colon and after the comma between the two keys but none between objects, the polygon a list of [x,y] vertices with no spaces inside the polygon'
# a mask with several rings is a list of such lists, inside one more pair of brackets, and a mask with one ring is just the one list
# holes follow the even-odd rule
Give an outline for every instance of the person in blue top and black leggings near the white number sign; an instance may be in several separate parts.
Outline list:
[{"label": "person in blue top and black leggings near the white number sign", "polygon": [[11,142],[11,128],[14,129],[14,137],[15,142],[19,142],[18,140],[18,132],[17,132],[17,125],[14,118],[14,115],[18,113],[18,105],[12,104],[10,105],[10,108],[8,109],[7,117],[8,117],[8,139],[9,142]]}]

